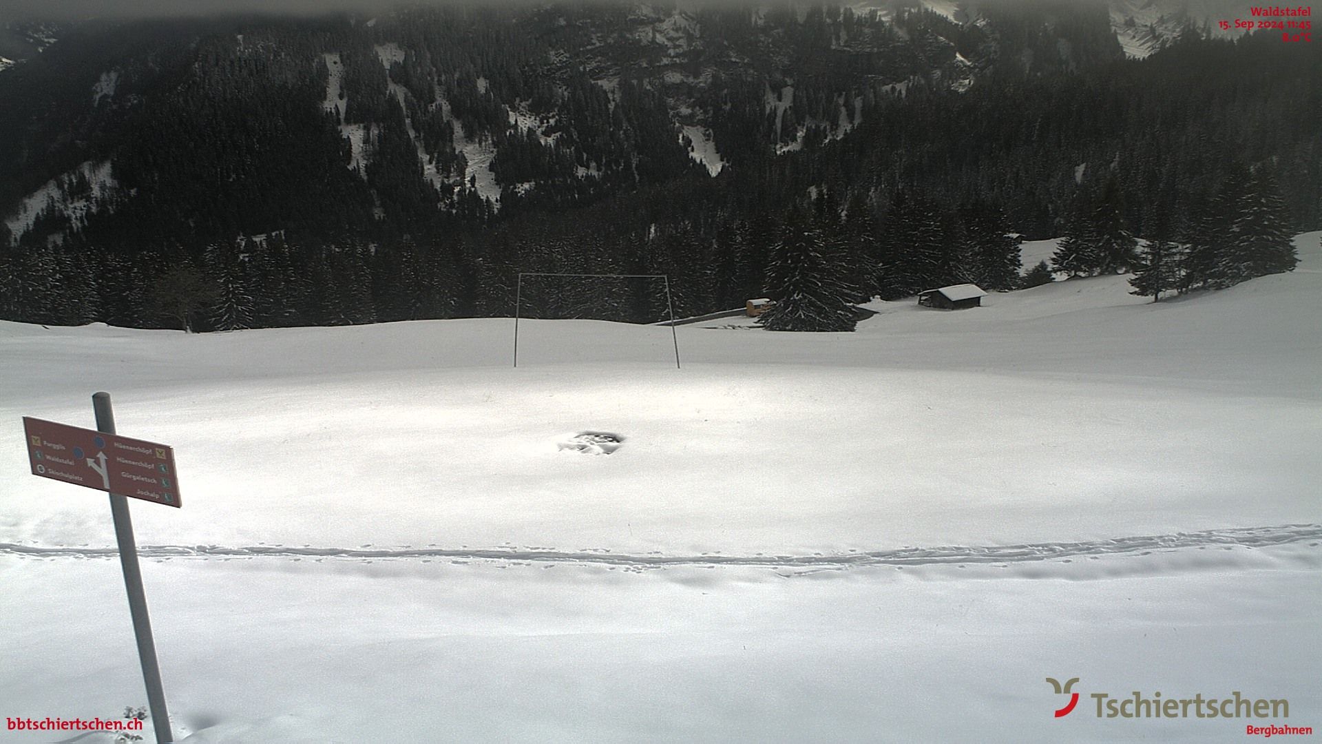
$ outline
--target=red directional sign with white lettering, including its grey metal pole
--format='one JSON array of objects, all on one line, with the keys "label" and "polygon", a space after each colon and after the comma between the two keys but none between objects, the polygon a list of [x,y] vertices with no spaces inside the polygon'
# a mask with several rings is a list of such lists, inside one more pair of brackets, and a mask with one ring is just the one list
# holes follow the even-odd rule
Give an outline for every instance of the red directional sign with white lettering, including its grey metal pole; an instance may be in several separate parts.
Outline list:
[{"label": "red directional sign with white lettering, including its grey metal pole", "polygon": [[115,434],[110,393],[91,396],[91,406],[97,414],[97,430],[24,416],[22,438],[28,443],[28,461],[33,475],[110,491],[110,515],[115,522],[119,564],[124,569],[128,614],[134,618],[134,638],[143,665],[152,727],[159,744],[172,744],[175,733],[165,708],[156,643],[152,641],[152,621],[147,614],[147,594],[143,592],[143,572],[137,568],[137,543],[134,540],[134,522],[128,516],[126,496],[178,507],[175,450]]}]

